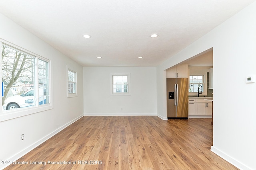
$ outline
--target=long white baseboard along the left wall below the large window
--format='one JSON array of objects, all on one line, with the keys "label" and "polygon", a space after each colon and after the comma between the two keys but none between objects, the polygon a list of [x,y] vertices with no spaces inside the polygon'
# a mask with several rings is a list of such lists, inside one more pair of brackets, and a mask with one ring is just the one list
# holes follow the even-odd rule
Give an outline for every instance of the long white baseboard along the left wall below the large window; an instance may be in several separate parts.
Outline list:
[{"label": "long white baseboard along the left wall below the large window", "polygon": [[[59,133],[60,131],[62,131],[63,129],[65,129],[66,127],[68,127],[69,125],[71,125],[72,123],[74,123],[75,121],[77,121],[78,119],[80,119],[81,117],[83,117],[84,115],[80,115],[78,117],[76,117],[75,119],[73,119],[72,121],[66,123],[65,125],[63,125],[62,127],[59,127],[58,129],[56,129],[55,131],[53,131],[52,133],[48,134],[47,136],[43,137],[42,139],[40,139],[39,141],[36,141],[35,143],[33,143],[32,145],[30,145],[29,147],[25,148],[24,150],[18,152],[17,154],[13,155],[12,157],[6,159],[6,160],[18,160],[19,158],[21,158],[22,156],[24,156],[25,154],[27,154],[28,152],[30,152],[31,150],[35,149],[36,147],[38,147],[40,144],[44,143],[45,141],[47,141],[48,139],[50,139],[51,137],[53,137],[54,135],[56,135],[57,133]],[[9,166],[10,164],[6,164],[4,167],[0,166],[0,169],[4,169],[7,166]]]}]

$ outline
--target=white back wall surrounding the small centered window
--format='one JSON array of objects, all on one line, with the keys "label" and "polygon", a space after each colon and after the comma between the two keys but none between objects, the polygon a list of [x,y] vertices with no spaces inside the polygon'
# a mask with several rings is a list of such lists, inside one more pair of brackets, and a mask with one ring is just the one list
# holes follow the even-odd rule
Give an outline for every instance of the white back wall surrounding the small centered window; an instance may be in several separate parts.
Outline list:
[{"label": "white back wall surrounding the small centered window", "polygon": [[[110,96],[111,74],[126,73],[131,95]],[[156,115],[156,67],[84,67],[84,115]]]}]

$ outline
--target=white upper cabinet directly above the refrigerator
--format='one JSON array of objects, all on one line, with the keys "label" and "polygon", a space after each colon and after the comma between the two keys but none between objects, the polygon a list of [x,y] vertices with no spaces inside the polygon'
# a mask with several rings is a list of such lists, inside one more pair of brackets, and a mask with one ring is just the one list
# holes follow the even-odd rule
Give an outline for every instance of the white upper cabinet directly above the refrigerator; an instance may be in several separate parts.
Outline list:
[{"label": "white upper cabinet directly above the refrigerator", "polygon": [[167,78],[188,78],[188,64],[179,64],[166,70]]}]

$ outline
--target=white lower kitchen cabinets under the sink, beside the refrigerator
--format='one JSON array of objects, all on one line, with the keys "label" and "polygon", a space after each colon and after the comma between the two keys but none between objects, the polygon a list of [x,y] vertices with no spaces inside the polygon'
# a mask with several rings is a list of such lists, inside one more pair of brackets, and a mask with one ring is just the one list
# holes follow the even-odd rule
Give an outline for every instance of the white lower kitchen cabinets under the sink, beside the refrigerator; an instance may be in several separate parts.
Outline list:
[{"label": "white lower kitchen cabinets under the sink, beside the refrigerator", "polygon": [[188,100],[188,115],[190,116],[212,116],[212,102],[204,99]]}]

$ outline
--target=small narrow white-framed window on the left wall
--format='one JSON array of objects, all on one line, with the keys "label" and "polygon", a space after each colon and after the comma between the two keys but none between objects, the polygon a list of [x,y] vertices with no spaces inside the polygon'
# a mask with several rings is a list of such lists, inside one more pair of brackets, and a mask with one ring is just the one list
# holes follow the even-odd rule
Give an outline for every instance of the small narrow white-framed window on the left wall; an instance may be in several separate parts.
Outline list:
[{"label": "small narrow white-framed window on the left wall", "polygon": [[77,96],[76,84],[76,71],[68,68],[68,97]]}]

